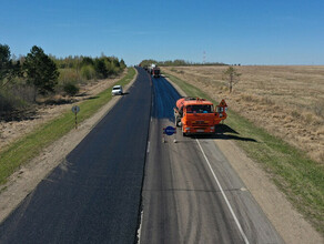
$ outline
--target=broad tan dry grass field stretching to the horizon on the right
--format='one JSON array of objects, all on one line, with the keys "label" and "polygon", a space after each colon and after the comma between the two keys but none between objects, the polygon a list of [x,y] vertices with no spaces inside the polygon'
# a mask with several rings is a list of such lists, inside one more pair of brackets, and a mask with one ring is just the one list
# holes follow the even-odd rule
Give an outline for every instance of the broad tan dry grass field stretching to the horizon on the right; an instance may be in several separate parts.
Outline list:
[{"label": "broad tan dry grass field stretching to the horizon on the right", "polygon": [[324,164],[324,67],[235,67],[241,77],[231,94],[227,67],[163,69]]}]

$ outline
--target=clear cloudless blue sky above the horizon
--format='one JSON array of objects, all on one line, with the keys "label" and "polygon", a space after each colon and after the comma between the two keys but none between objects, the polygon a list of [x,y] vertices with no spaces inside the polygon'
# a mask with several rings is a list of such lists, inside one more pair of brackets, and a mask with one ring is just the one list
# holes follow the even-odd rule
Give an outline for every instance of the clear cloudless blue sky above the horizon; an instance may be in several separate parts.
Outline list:
[{"label": "clear cloudless blue sky above the horizon", "polygon": [[324,64],[323,0],[0,0],[0,43],[26,55]]}]

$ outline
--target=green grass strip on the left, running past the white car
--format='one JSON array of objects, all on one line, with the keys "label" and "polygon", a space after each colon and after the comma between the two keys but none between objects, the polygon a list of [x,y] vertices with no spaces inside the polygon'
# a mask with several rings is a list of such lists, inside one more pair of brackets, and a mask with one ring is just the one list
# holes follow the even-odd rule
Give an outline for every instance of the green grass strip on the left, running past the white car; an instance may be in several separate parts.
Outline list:
[{"label": "green grass strip on the left, running past the white car", "polygon": [[[135,70],[130,68],[126,75],[115,84],[125,85],[135,75]],[[111,100],[111,88],[99,93],[92,99],[79,104],[78,122],[92,116],[102,105]],[[74,114],[71,111],[45,123],[41,128],[31,132],[21,140],[9,145],[0,154],[0,184],[7,182],[7,179],[21,165],[37,156],[45,146],[62,138],[74,128]]]}]

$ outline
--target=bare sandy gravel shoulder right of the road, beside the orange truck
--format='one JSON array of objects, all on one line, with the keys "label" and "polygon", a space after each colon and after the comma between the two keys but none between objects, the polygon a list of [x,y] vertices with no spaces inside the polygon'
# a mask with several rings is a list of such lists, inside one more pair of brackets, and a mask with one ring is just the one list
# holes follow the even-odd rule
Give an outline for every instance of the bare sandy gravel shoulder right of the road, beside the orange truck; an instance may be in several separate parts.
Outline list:
[{"label": "bare sandy gravel shoulder right of the road, beside the orange truck", "polygon": [[[179,85],[170,79],[168,81],[181,95],[185,96]],[[285,243],[324,243],[323,236],[292,206],[285,195],[271,181],[270,175],[256,162],[249,159],[234,141],[214,140],[214,143],[236,171]]]}]

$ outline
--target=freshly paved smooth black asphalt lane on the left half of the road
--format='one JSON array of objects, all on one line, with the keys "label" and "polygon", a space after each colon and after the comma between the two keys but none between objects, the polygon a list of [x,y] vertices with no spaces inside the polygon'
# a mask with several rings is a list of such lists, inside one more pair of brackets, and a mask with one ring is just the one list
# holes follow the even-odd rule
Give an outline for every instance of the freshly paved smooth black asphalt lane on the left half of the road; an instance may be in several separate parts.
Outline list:
[{"label": "freshly paved smooth black asphalt lane on the left half of the road", "polygon": [[151,110],[143,70],[110,113],[0,225],[0,243],[133,243]]}]

